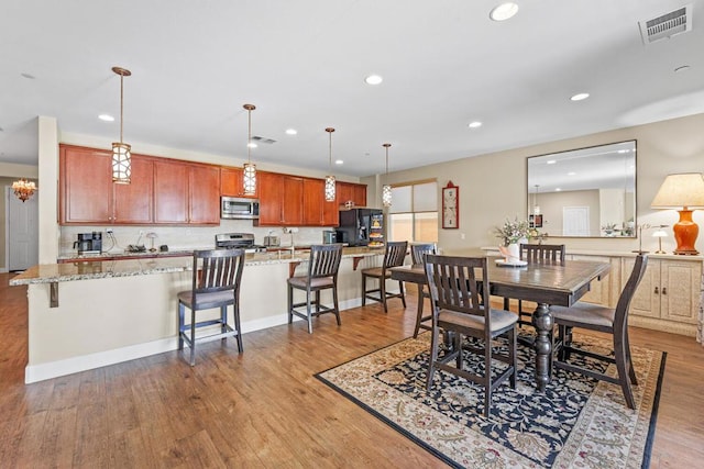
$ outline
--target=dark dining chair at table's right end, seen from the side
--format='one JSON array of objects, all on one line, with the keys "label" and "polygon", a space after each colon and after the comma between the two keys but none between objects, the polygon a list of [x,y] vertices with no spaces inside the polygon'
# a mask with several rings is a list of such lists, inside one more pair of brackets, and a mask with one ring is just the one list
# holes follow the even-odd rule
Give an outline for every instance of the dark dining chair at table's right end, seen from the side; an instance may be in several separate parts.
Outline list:
[{"label": "dark dining chair at table's right end, seen from the side", "polygon": [[[554,323],[558,325],[558,344],[556,347],[558,356],[553,361],[554,366],[594,379],[619,384],[626,399],[626,405],[628,405],[629,409],[636,407],[631,384],[638,386],[638,381],[634,370],[628,340],[628,308],[647,266],[647,255],[641,254],[636,257],[634,269],[618,297],[616,309],[582,301],[569,308],[550,306]],[[603,355],[574,346],[572,343],[573,327],[609,334],[613,339],[613,351],[608,355]],[[570,362],[570,355],[572,353],[608,364],[616,364],[617,376],[613,377],[606,372],[600,372]]]}]

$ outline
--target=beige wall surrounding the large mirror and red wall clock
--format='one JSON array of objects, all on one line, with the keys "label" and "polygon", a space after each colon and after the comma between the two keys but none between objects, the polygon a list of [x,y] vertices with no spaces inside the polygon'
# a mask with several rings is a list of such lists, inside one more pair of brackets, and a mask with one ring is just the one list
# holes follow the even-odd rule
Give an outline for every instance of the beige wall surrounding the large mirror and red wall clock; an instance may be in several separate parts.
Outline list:
[{"label": "beige wall surrounding the large mirror and red wall clock", "polygon": [[[639,224],[668,224],[678,220],[673,210],[654,211],[650,202],[668,174],[704,172],[704,114],[673,119],[576,138],[498,152],[450,163],[396,171],[388,175],[391,183],[438,178],[439,190],[451,180],[460,187],[460,228],[439,228],[441,247],[494,246],[495,226],[506,217],[526,216],[526,158],[572,148],[637,141],[637,222]],[[400,157],[400,156],[399,156]],[[363,178],[370,187],[369,204],[381,204],[380,177]],[[704,226],[704,211],[694,213],[694,221]],[[462,238],[464,236],[464,239]],[[637,239],[615,238],[549,238],[565,243],[568,249],[624,252],[638,248]],[[663,249],[675,247],[672,236],[663,238]],[[654,250],[657,241],[644,236],[644,249]],[[704,235],[700,234],[696,248],[704,252]]]}]

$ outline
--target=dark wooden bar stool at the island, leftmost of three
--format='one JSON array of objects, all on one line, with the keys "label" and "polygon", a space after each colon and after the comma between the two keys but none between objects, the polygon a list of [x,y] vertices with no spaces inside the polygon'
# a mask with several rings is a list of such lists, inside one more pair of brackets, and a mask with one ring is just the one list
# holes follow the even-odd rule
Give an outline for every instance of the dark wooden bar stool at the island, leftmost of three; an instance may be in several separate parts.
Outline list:
[{"label": "dark wooden bar stool at the island, leftmost of three", "polygon": [[[240,282],[244,268],[244,249],[212,249],[194,252],[191,289],[177,293],[178,349],[190,348],[190,366],[196,365],[196,344],[231,336],[237,337],[238,351],[243,351],[240,325]],[[233,325],[228,323],[228,306],[233,308]],[[185,322],[186,308],[190,323]],[[219,308],[220,316],[197,321],[196,313]],[[200,327],[219,326],[219,332],[196,337]]]}]

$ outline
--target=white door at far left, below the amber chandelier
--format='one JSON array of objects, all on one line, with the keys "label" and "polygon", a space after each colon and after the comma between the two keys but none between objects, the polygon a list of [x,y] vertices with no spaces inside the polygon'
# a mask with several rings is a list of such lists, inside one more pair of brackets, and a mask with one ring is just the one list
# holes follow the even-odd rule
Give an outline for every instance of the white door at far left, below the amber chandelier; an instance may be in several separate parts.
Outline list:
[{"label": "white door at far left, below the amber chandelier", "polygon": [[38,264],[38,203],[36,194],[22,202],[7,188],[6,233],[8,269],[24,270]]}]

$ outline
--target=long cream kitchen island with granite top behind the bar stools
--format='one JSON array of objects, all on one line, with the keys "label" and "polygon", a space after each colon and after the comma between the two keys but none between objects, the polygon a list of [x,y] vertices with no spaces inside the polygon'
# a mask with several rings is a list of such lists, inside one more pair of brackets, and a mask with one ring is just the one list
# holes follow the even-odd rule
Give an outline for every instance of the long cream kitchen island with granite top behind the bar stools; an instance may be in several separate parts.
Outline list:
[{"label": "long cream kitchen island with granite top behind the bar stools", "polygon": [[[341,310],[361,304],[356,270],[380,266],[383,254],[344,248],[338,279]],[[286,279],[306,272],[308,256],[305,250],[246,255],[240,297],[244,334],[287,323]],[[176,293],[190,289],[191,267],[188,255],[76,260],[34,266],[11,279],[11,286],[28,286],[25,382],[175,350]],[[322,301],[330,303],[331,294],[323,292]]]}]

